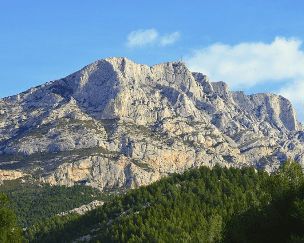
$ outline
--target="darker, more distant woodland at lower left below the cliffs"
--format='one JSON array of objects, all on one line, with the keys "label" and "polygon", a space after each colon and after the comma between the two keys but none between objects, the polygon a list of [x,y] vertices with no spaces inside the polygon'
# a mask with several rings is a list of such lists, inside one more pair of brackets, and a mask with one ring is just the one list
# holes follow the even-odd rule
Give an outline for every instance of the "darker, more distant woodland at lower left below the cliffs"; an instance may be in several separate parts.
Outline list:
[{"label": "darker, more distant woodland at lower left below the cliffs", "polygon": [[[4,183],[3,187],[7,187]],[[2,186],[1,186],[2,187]],[[39,187],[3,190],[10,199],[9,207],[16,214],[16,221],[21,228],[26,228],[44,221],[61,212],[65,212],[93,200],[109,201],[114,196],[101,193],[98,189],[84,185],[73,187],[39,185]]]}]

